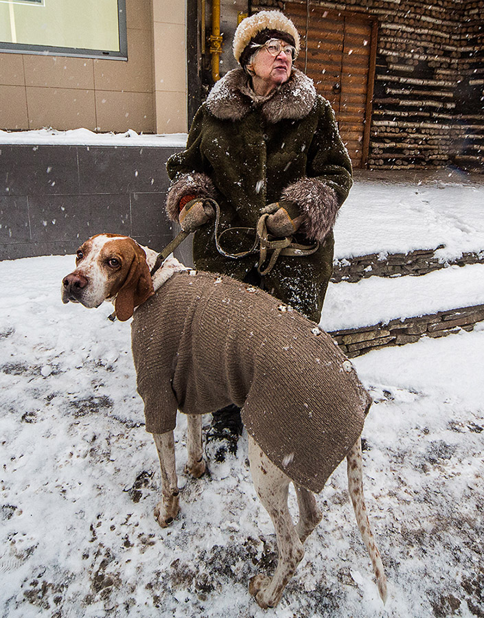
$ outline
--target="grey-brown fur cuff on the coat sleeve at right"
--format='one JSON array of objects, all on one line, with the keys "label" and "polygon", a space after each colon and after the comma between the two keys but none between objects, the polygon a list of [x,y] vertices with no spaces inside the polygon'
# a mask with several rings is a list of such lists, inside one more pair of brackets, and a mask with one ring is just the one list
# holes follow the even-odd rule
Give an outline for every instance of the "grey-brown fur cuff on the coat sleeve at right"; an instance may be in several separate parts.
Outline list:
[{"label": "grey-brown fur cuff on the coat sleeve at right", "polygon": [[336,192],[317,178],[303,178],[284,189],[283,200],[295,202],[304,216],[299,231],[310,240],[324,240],[336,221],[338,198]]}]

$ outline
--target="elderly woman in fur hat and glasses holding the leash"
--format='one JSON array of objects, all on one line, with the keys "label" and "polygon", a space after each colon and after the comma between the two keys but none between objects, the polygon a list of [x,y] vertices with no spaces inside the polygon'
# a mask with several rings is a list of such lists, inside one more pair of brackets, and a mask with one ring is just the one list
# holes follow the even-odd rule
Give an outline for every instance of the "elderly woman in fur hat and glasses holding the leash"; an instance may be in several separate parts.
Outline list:
[{"label": "elderly woman in fur hat and glasses holding the leash", "polygon": [[[299,49],[295,25],[279,11],[240,23],[233,39],[240,68],[211,89],[186,150],[168,160],[167,211],[176,221],[194,199],[213,198],[220,242],[213,219],[196,231],[196,268],[258,285],[318,322],[332,274],[332,227],[352,165],[329,102],[293,66]],[[313,252],[279,255],[260,274],[259,254],[246,249],[264,209],[273,237],[290,236]],[[235,253],[242,257],[229,257]]]}]

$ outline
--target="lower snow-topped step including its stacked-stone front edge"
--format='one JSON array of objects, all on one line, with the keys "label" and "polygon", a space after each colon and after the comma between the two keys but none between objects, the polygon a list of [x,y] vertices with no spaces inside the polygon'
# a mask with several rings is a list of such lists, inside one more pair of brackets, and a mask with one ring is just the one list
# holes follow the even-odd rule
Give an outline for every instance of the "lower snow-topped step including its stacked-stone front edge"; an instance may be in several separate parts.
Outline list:
[{"label": "lower snow-topped step including its stacked-stone front edge", "polygon": [[472,330],[484,320],[484,264],[422,277],[369,277],[328,287],[321,328],[347,356]]}]

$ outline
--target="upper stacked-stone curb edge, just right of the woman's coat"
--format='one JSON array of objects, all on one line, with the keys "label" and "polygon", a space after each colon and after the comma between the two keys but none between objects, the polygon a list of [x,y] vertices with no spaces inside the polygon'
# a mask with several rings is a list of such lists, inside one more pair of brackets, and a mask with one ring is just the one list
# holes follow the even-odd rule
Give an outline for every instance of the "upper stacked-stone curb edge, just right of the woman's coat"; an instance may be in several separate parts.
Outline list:
[{"label": "upper stacked-stone curb edge, just right of the woman's coat", "polygon": [[[442,249],[442,247],[437,247]],[[356,258],[335,260],[331,281],[355,283],[367,277],[397,277],[402,275],[426,275],[447,266],[465,266],[466,264],[484,264],[484,251],[463,253],[461,258],[452,262],[439,262],[435,257],[437,249],[417,249],[409,253],[390,253],[382,255],[371,253]]]}]

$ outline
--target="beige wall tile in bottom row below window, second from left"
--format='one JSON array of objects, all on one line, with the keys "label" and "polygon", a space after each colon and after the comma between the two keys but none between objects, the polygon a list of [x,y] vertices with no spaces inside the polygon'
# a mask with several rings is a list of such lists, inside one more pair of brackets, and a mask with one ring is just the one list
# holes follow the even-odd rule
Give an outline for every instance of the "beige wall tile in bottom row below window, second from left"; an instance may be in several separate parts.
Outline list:
[{"label": "beige wall tile in bottom row below window, second from left", "polygon": [[95,129],[93,90],[27,87],[29,128]]}]

